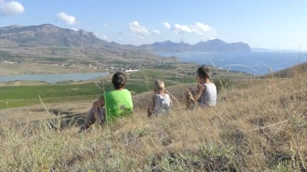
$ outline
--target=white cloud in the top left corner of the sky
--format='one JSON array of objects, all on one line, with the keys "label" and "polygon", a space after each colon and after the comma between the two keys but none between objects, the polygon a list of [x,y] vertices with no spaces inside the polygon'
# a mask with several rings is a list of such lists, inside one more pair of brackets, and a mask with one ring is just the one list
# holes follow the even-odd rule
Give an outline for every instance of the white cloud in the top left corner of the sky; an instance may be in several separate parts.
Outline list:
[{"label": "white cloud in the top left corner of the sky", "polygon": [[14,16],[24,11],[24,7],[18,2],[0,0],[0,16]]}]

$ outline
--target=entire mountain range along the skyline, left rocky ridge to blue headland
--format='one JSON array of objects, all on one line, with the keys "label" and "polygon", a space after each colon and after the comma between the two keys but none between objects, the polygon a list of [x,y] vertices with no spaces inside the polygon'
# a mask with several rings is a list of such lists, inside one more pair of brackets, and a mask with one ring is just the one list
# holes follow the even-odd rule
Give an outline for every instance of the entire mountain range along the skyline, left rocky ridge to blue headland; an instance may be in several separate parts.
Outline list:
[{"label": "entire mountain range along the skyline, left rocky ridge to blue headland", "polygon": [[38,26],[12,25],[0,28],[0,42],[10,41],[18,46],[61,46],[61,47],[92,47],[102,49],[133,50],[146,52],[185,52],[185,51],[215,51],[215,52],[250,52],[248,44],[226,43],[220,39],[199,42],[191,45],[184,42],[156,42],[140,46],[121,45],[97,38],[92,32],[71,30],[52,24]]}]

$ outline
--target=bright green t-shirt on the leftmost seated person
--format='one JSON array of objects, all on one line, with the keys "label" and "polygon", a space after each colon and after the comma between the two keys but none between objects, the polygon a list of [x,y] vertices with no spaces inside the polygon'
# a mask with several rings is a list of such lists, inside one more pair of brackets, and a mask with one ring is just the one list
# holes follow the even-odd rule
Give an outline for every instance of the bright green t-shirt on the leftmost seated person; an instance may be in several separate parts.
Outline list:
[{"label": "bright green t-shirt on the leftmost seated person", "polygon": [[113,90],[102,95],[105,99],[105,108],[107,112],[107,121],[132,113],[131,93],[124,90]]}]

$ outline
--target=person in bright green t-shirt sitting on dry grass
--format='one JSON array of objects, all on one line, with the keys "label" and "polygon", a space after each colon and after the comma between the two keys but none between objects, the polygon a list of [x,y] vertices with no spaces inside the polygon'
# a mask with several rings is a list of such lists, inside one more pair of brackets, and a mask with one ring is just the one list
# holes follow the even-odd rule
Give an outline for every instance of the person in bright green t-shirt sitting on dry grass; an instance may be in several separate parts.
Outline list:
[{"label": "person in bright green t-shirt sitting on dry grass", "polygon": [[93,103],[93,107],[90,109],[80,132],[88,129],[95,120],[104,124],[120,116],[132,113],[131,93],[124,89],[126,81],[126,75],[122,72],[117,72],[113,75],[112,83],[114,90],[105,92]]}]

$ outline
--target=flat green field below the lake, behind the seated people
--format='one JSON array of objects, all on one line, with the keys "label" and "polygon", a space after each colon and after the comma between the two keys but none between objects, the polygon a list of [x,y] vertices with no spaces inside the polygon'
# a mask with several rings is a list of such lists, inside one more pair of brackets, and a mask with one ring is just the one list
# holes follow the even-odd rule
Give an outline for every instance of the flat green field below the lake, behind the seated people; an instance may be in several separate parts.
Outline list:
[{"label": "flat green field below the lake, behind the seated people", "polygon": [[[126,89],[131,91],[132,94],[151,91],[151,82],[128,80]],[[176,83],[177,81],[165,81],[167,86]],[[113,89],[113,85],[110,82],[105,83],[105,85],[102,83],[97,84],[107,91]],[[95,83],[0,87],[0,109],[40,104],[38,96],[40,96],[43,103],[59,103],[93,100],[101,93],[103,93],[103,90],[99,89]]]}]

